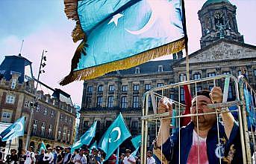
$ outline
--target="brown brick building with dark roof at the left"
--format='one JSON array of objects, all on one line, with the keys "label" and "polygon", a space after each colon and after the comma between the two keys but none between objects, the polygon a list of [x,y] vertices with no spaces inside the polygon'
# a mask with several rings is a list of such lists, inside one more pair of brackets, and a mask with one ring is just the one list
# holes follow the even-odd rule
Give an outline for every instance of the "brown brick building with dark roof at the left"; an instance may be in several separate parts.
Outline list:
[{"label": "brown brick building with dark roof at the left", "polygon": [[[49,87],[52,95],[36,92],[33,76],[25,75],[25,66],[29,65],[31,62],[22,56],[5,56],[1,63],[0,122],[14,122],[25,116],[25,136],[19,137],[19,148],[24,148],[33,110],[30,145],[36,149],[42,141],[50,146],[71,145],[75,140],[76,111],[70,95]],[[40,82],[40,85],[45,84]]]}]

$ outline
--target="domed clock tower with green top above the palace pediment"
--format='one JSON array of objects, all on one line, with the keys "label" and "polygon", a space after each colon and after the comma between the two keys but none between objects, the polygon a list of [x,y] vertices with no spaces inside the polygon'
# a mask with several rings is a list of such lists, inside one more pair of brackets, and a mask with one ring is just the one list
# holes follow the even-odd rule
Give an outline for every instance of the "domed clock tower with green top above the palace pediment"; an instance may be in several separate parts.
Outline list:
[{"label": "domed clock tower with green top above the palace pediment", "polygon": [[237,7],[228,0],[207,0],[199,10],[202,28],[201,48],[218,39],[233,39],[243,42],[237,28]]}]

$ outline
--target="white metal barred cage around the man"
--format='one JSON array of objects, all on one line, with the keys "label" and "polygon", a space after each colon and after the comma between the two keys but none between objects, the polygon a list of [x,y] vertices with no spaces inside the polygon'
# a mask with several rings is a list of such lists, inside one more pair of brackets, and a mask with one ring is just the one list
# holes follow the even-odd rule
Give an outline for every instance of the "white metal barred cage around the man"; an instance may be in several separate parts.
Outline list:
[{"label": "white metal barred cage around the man", "polygon": [[[197,91],[202,89],[210,90],[214,86],[219,86],[222,88],[223,98],[221,103],[209,104],[208,108],[215,109],[214,112],[201,113],[199,114],[196,105],[196,114],[184,114],[186,104],[184,104],[184,86],[187,85],[191,96],[195,96]],[[173,111],[175,115],[170,116],[169,112],[157,114],[157,103],[160,98],[166,96],[172,101]],[[197,98],[196,98],[197,99]],[[246,76],[237,77],[226,74],[219,76],[211,76],[204,79],[196,79],[185,82],[178,82],[175,84],[164,85],[157,88],[152,88],[143,95],[143,111],[142,111],[142,145],[140,149],[141,162],[146,164],[146,152],[149,148],[152,148],[152,141],[157,137],[157,132],[160,128],[160,121],[163,119],[171,119],[172,129],[181,128],[181,119],[184,117],[196,117],[198,120],[199,116],[207,114],[215,114],[216,121],[222,122],[219,114],[231,113],[239,125],[240,133],[240,145],[243,155],[243,163],[251,164],[255,160],[256,154],[251,152],[256,152],[256,111],[255,103],[256,92],[249,85]],[[217,110],[217,108],[225,108],[228,110]],[[217,123],[217,125],[219,125]],[[170,131],[172,130],[170,129]],[[198,132],[199,132],[199,128]],[[172,130],[173,131],[173,130]],[[219,138],[219,126],[218,131],[218,144],[220,144]],[[180,133],[179,133],[180,134]],[[198,133],[199,134],[199,133]],[[152,137],[153,136],[153,137]],[[162,143],[163,144],[163,143]],[[161,145],[162,145],[161,144]],[[178,163],[181,163],[181,136],[178,135]],[[253,145],[253,146],[252,146]],[[252,148],[253,147],[253,148]],[[198,147],[199,149],[199,147]],[[198,151],[199,152],[199,151]],[[220,152],[219,152],[220,154]],[[200,154],[198,153],[198,156]],[[200,158],[198,158],[200,159]],[[163,163],[163,153],[161,150],[160,157],[158,157],[160,163]],[[222,162],[222,157],[219,157],[219,163]],[[200,160],[198,161],[200,163]]]}]

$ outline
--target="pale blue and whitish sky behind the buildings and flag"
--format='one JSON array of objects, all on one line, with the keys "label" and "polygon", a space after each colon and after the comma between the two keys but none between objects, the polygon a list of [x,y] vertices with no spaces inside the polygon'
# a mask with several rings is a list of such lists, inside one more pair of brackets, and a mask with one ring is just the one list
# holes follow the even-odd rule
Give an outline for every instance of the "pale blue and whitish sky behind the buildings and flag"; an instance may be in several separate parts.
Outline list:
[{"label": "pale blue and whitish sky behind the buildings and flag", "polygon": [[[197,12],[206,0],[184,0],[189,37],[189,53],[199,50],[202,36]],[[255,0],[230,0],[237,6],[237,24],[245,42],[256,45]],[[78,44],[72,42],[75,22],[66,19],[63,0],[0,0],[0,62],[5,55],[18,55],[24,39],[22,56],[33,62],[37,76],[40,57],[47,50],[46,73],[40,81],[51,88],[60,88],[81,105],[83,82],[64,87],[58,83],[69,73],[70,63]],[[47,91],[45,94],[48,94]]]}]

